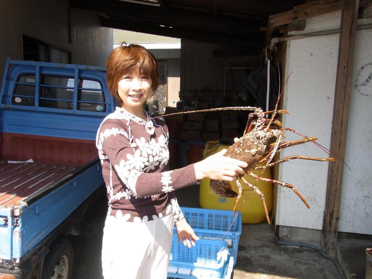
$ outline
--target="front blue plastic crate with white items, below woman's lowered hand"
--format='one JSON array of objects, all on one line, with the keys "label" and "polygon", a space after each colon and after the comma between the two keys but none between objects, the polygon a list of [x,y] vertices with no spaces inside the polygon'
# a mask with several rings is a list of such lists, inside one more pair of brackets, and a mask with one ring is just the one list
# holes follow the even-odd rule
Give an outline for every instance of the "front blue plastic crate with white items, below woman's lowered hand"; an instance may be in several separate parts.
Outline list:
[{"label": "front blue plastic crate with white items, below woman's lowered hand", "polygon": [[[224,240],[201,239],[196,246],[189,248],[178,244],[176,236],[173,236],[170,255],[168,278],[228,278],[230,279],[234,265],[234,257],[217,260],[217,253],[221,248],[227,247]],[[234,254],[232,248],[228,249]]]}]

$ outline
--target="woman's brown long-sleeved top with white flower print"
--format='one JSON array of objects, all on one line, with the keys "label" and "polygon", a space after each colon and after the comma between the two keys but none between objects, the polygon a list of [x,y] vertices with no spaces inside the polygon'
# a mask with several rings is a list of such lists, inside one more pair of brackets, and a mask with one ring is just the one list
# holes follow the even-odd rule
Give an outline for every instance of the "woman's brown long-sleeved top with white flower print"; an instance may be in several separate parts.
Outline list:
[{"label": "woman's brown long-sleeved top with white flower print", "polygon": [[176,189],[197,183],[194,166],[169,171],[168,129],[116,108],[101,123],[96,138],[109,199],[108,215],[146,222],[173,211],[183,218]]}]

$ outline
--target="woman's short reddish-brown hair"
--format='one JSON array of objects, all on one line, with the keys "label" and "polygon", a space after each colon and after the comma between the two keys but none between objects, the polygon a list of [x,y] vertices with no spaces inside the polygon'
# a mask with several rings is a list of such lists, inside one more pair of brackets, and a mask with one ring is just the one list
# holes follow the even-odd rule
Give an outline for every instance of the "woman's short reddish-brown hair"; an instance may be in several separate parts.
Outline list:
[{"label": "woman's short reddish-brown hair", "polygon": [[141,45],[122,43],[109,55],[106,62],[106,81],[111,94],[118,99],[119,106],[123,101],[118,94],[118,82],[124,73],[137,72],[151,78],[151,93],[153,96],[159,84],[158,65],[154,55]]}]

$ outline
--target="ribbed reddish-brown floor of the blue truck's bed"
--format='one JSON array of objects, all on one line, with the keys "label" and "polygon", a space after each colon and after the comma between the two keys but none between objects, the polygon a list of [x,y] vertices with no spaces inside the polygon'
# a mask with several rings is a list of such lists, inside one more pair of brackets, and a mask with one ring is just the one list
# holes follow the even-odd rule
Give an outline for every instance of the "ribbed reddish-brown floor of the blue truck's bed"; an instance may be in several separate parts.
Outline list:
[{"label": "ribbed reddish-brown floor of the blue truck's bed", "polygon": [[0,206],[13,206],[76,170],[78,166],[8,163],[0,160]]}]

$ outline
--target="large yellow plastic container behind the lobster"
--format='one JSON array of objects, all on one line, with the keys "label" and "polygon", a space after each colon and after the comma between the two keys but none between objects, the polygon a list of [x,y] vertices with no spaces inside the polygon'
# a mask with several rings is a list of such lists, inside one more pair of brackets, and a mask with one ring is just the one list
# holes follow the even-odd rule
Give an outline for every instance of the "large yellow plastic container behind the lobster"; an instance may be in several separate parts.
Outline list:
[{"label": "large yellow plastic container behind the lobster", "polygon": [[[207,147],[207,144],[208,142],[205,145],[206,147]],[[229,147],[228,145],[221,145],[219,143],[214,143],[214,142],[212,144],[214,144],[214,146],[212,150],[209,152],[208,156],[214,153],[217,153],[218,151],[224,148]],[[261,170],[253,170],[252,172],[254,174],[259,175],[261,173]],[[248,176],[247,174],[244,177],[247,179],[249,183],[254,184],[254,186],[260,189],[262,194],[265,196],[265,203],[266,203],[267,211],[270,213],[270,211],[273,208],[272,183],[264,182],[261,180],[258,180],[256,182],[256,179]],[[266,170],[264,170],[261,177],[271,179],[270,169],[267,168]],[[240,179],[239,181],[241,185],[243,186],[243,192],[242,192],[242,195],[241,195],[241,198],[237,205],[236,210],[241,212],[243,224],[259,224],[263,222],[264,220],[266,220],[266,215],[265,215],[263,203],[262,203],[260,196],[254,193],[253,191],[250,191],[250,187],[246,185],[245,183],[243,183]],[[199,192],[200,206],[202,208],[232,210],[232,208],[234,208],[236,198],[222,198],[218,196],[215,192],[212,191],[211,186],[209,185],[209,182],[210,182],[209,178],[205,178],[201,180],[200,192]],[[234,190],[235,192],[238,192],[238,187],[235,181],[231,182],[231,187],[232,187],[232,190]],[[247,195],[248,197],[246,199]],[[243,203],[244,199],[246,199],[246,201]]]}]

